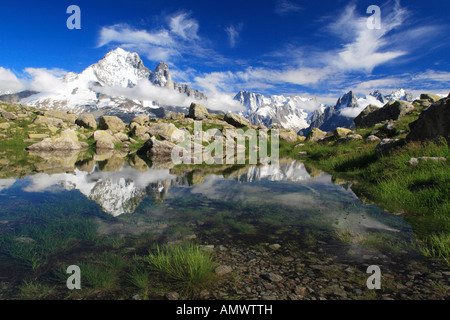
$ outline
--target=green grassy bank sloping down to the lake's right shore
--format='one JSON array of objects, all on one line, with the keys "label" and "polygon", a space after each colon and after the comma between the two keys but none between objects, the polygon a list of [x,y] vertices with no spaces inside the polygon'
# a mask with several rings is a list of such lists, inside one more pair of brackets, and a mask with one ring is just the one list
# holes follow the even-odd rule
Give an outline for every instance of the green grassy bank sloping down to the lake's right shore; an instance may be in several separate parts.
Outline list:
[{"label": "green grassy bank sloping down to the lake's right shore", "polygon": [[[361,132],[364,133],[364,132]],[[377,143],[306,143],[306,163],[336,178],[355,181],[352,189],[364,200],[392,213],[404,214],[412,225],[418,246],[427,256],[447,262],[450,257],[450,165],[448,161],[422,161],[408,165],[411,158],[449,158],[445,140],[439,142],[399,141],[387,155],[377,155]],[[300,149],[300,148],[299,148]]]}]

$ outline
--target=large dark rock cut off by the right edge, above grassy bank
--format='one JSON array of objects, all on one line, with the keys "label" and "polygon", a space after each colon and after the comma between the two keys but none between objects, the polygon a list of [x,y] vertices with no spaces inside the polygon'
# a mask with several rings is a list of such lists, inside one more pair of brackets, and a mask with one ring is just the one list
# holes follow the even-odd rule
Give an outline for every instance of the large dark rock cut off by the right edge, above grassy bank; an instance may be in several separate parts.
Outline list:
[{"label": "large dark rock cut off by the right edge, above grassy bank", "polygon": [[407,141],[432,140],[438,137],[450,141],[450,95],[424,110],[419,119],[409,124],[409,128]]}]

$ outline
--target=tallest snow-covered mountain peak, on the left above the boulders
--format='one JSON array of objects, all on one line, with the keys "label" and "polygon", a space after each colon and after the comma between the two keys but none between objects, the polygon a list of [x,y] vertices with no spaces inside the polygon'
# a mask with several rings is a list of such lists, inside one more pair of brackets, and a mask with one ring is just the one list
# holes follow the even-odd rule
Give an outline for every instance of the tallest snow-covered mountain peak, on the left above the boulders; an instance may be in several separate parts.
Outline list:
[{"label": "tallest snow-covered mountain peak, on the left above the boulders", "polygon": [[[138,84],[142,85],[142,89],[135,88]],[[126,89],[131,88],[135,90],[127,92]],[[147,94],[152,90],[155,90],[153,95]],[[133,94],[136,94],[136,97],[129,96]],[[174,101],[179,101],[183,96],[186,99],[207,99],[202,92],[191,89],[188,85],[174,82],[166,63],[160,62],[154,71],[150,71],[137,53],[121,48],[108,52],[103,59],[90,65],[81,73],[65,74],[57,86],[46,88],[41,92],[23,91],[9,94],[2,96],[1,99],[38,108],[61,109],[74,113],[97,111],[99,115],[119,116],[156,113],[155,116],[161,116],[164,115],[161,107],[171,107],[171,105],[161,103],[157,99],[158,95],[178,95],[178,100],[172,99]]]}]

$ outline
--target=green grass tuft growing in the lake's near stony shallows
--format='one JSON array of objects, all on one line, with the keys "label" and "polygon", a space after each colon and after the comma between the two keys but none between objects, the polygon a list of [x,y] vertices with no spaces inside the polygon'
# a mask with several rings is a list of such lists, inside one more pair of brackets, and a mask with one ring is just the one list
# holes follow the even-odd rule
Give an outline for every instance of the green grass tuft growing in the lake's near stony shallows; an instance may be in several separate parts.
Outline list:
[{"label": "green grass tuft growing in the lake's near stony shallows", "polygon": [[212,254],[192,242],[163,248],[157,246],[143,259],[151,271],[189,292],[207,285],[213,276]]}]

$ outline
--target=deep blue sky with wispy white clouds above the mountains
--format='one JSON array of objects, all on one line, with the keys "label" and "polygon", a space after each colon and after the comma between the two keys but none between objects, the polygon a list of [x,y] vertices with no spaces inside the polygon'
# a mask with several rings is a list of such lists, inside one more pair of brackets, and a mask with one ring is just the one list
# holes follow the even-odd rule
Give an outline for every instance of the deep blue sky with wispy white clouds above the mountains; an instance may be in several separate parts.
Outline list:
[{"label": "deep blue sky with wispy white clouds above the mountains", "polygon": [[[69,30],[69,5],[81,29]],[[380,8],[369,29],[367,8]],[[0,90],[33,73],[81,72],[109,50],[138,52],[153,70],[212,93],[317,95],[348,90],[448,93],[450,2],[427,1],[3,1]]]}]

